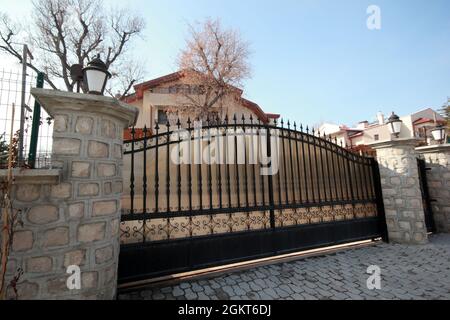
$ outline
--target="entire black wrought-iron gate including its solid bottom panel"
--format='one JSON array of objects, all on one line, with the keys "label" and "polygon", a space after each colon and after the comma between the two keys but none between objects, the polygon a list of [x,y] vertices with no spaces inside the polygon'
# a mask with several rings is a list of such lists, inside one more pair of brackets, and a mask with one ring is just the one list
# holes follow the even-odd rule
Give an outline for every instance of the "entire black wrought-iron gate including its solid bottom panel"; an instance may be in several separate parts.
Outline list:
[{"label": "entire black wrought-iron gate including its solid bottom panel", "polygon": [[386,238],[375,159],[295,123],[204,124],[125,142],[120,283]]}]

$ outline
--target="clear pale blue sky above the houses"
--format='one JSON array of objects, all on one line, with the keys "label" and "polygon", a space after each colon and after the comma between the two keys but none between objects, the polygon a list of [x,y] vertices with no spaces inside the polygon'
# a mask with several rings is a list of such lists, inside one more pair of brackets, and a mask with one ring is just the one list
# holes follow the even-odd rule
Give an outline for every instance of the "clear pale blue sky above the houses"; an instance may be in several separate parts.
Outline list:
[{"label": "clear pale blue sky above the houses", "polygon": [[[147,24],[135,56],[146,78],[176,71],[187,24],[220,18],[250,42],[252,78],[244,96],[291,121],[356,124],[378,111],[407,115],[440,108],[450,96],[448,0],[105,0]],[[381,12],[369,30],[367,8]],[[0,0],[29,16],[31,1]],[[2,56],[0,56],[1,58]],[[6,60],[2,59],[4,64]]]}]

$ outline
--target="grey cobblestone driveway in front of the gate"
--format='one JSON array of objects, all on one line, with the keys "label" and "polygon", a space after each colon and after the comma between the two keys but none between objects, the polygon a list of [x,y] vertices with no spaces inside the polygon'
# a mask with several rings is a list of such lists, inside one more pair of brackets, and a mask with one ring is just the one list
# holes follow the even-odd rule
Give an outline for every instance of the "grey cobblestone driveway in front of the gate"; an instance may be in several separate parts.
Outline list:
[{"label": "grey cobblestone driveway in front of the gate", "polygon": [[[381,290],[367,289],[370,265],[381,268]],[[380,243],[206,280],[149,287],[121,294],[119,299],[450,299],[450,235],[432,236],[427,245]]]}]

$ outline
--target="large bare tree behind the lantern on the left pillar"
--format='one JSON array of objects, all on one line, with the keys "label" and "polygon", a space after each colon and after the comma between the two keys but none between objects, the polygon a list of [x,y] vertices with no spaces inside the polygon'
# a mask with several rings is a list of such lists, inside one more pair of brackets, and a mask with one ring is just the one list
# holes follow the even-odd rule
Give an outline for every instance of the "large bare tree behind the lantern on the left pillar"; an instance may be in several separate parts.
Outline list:
[{"label": "large bare tree behind the lantern on the left pillar", "polygon": [[28,30],[7,15],[0,15],[0,50],[22,62],[16,44],[28,42],[38,57],[36,62],[28,62],[28,66],[43,71],[54,89],[62,82],[68,91],[75,87],[70,78],[71,65],[86,65],[93,56],[103,54],[103,60],[116,78],[112,81],[117,86],[114,89],[121,85],[119,90],[125,96],[134,82],[140,80],[137,76],[142,75],[139,71],[130,78],[136,66],[129,66],[128,49],[132,40],[141,35],[145,24],[141,17],[125,9],[104,8],[101,0],[35,0]]}]

